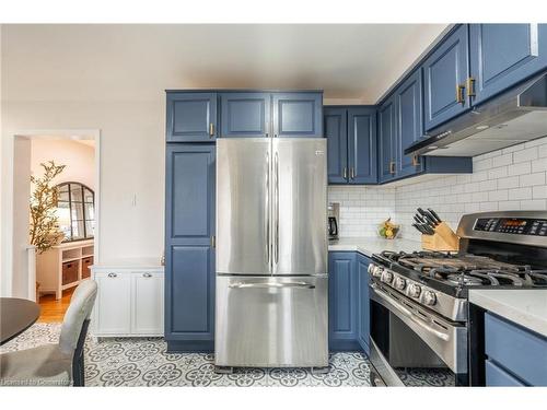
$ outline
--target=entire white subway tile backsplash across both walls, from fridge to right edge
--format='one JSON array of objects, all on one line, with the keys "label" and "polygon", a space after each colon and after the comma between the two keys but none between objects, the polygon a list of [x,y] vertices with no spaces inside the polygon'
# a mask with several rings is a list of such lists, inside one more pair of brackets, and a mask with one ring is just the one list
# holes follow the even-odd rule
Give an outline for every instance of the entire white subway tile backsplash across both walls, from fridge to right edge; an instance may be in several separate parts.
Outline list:
[{"label": "entire white subway tile backsplash across both walls, from fridge to right edge", "polygon": [[547,210],[547,137],[476,156],[473,164],[473,174],[396,188],[329,186],[329,201],[340,202],[340,235],[376,236],[377,224],[392,216],[401,237],[419,239],[411,226],[418,207],[435,209],[454,230],[464,213]]}]

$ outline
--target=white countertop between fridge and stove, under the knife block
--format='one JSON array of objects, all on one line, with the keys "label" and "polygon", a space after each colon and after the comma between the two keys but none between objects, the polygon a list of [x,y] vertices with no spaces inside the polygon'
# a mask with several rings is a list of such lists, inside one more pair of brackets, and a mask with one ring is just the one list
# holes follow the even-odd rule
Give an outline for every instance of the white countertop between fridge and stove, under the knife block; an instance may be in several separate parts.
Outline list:
[{"label": "white countertop between fridge and stove, under the knife block", "polygon": [[380,237],[341,237],[329,242],[328,250],[353,250],[371,257],[382,250],[414,251],[421,250],[421,243],[410,239],[382,239]]}]

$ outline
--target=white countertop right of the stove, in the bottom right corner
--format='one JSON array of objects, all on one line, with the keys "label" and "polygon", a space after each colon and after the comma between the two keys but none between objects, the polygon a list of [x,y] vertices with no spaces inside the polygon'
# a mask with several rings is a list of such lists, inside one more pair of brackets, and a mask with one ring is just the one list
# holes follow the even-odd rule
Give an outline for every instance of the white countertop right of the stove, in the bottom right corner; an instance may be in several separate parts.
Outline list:
[{"label": "white countertop right of the stove, in the bottom right corner", "polygon": [[547,337],[547,290],[472,289],[469,302]]}]

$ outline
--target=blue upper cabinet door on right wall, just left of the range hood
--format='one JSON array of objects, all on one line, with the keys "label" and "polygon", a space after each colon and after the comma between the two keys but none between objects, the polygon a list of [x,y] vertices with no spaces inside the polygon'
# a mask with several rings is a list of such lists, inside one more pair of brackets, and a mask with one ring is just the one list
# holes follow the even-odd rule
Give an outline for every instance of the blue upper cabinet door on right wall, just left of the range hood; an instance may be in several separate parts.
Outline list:
[{"label": "blue upper cabinet door on right wall, just left of the range hood", "polygon": [[423,137],[421,70],[416,70],[395,91],[397,177],[423,171],[423,160],[405,155],[405,149]]}]

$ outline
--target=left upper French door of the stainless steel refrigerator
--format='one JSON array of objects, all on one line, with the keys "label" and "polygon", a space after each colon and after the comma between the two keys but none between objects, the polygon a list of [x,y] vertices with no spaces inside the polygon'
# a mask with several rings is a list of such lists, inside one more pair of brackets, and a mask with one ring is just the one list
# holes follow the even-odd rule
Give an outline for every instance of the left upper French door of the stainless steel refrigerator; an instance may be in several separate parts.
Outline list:
[{"label": "left upper French door of the stainless steel refrigerator", "polygon": [[217,273],[271,273],[270,147],[217,140]]}]

